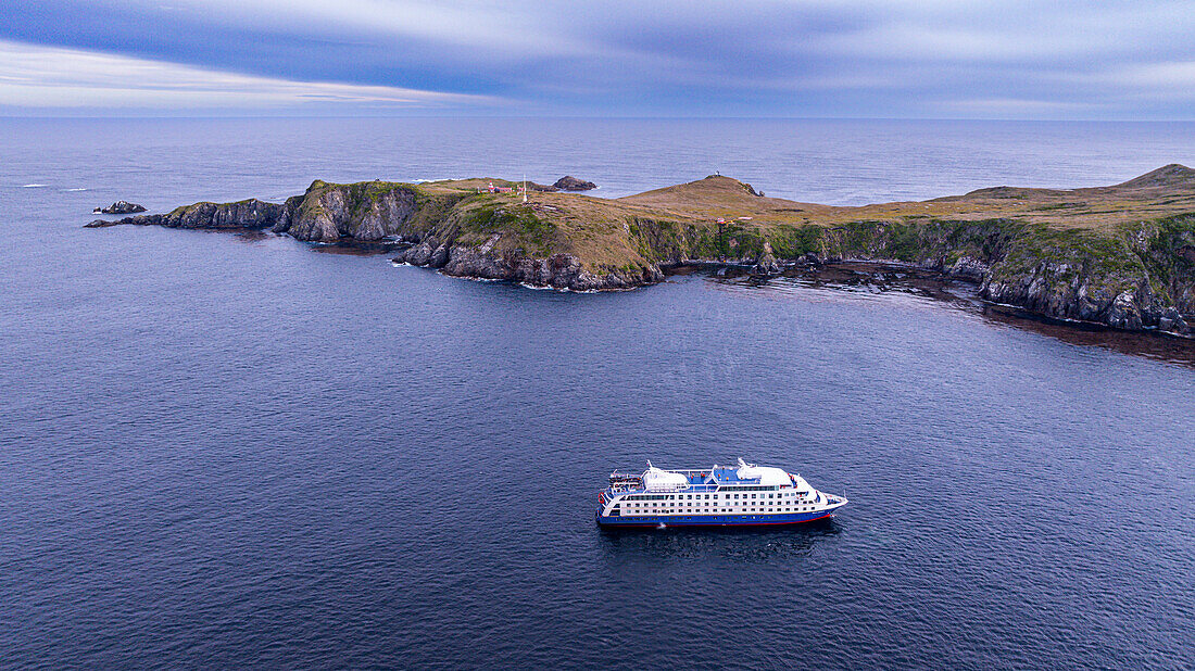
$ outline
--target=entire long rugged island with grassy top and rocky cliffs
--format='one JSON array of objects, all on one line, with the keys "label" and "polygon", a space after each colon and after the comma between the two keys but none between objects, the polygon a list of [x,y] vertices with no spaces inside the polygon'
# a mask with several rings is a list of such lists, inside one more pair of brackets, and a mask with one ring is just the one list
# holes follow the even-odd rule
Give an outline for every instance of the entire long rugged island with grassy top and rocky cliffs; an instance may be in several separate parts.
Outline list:
[{"label": "entire long rugged island with grassy top and rocky cliffs", "polygon": [[1113,186],[997,186],[862,207],[765,197],[722,176],[623,198],[537,187],[315,180],[283,203],[196,203],[87,226],[391,241],[397,261],[445,275],[577,291],[633,289],[693,264],[766,276],[793,264],[899,263],[1050,319],[1182,337],[1195,328],[1195,171],[1181,165]]}]

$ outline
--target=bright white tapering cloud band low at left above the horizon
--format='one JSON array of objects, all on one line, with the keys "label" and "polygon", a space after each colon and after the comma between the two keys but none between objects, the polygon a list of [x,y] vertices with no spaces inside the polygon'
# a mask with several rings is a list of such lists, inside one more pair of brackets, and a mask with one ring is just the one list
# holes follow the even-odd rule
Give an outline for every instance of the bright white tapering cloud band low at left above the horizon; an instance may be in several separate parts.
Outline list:
[{"label": "bright white tapering cloud band low at left above the horizon", "polygon": [[392,107],[495,105],[496,98],[396,86],[295,81],[80,49],[0,42],[0,105],[19,107]]}]

